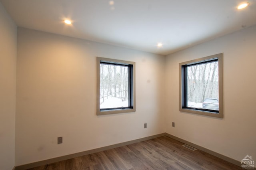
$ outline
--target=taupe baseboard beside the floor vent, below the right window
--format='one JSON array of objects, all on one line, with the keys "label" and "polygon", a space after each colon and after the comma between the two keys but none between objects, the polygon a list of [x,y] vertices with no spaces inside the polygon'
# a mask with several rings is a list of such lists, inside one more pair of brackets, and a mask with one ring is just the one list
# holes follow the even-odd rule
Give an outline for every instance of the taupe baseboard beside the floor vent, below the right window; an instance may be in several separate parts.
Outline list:
[{"label": "taupe baseboard beside the floor vent, below the right window", "polygon": [[182,138],[178,138],[178,137],[176,137],[176,136],[173,136],[172,134],[165,133],[165,136],[168,136],[168,137],[170,137],[170,138],[173,138],[173,139],[175,139],[175,140],[178,140],[178,141],[180,141],[180,142],[182,142],[182,143],[184,143],[184,144],[188,144],[188,145],[190,145],[190,146],[192,146],[192,147],[194,147],[194,148],[197,148],[198,150],[202,150],[202,151],[204,151],[204,152],[206,152],[206,153],[208,153],[208,154],[211,154],[211,155],[213,155],[213,156],[216,156],[216,157],[218,157],[218,158],[220,158],[220,159],[226,160],[227,162],[230,162],[230,163],[232,163],[232,164],[235,164],[235,165],[241,167],[241,162],[238,161],[238,160],[234,160],[234,159],[232,159],[232,158],[230,158],[230,157],[228,157],[228,156],[224,156],[224,155],[222,155],[222,154],[219,154],[219,153],[217,153],[217,152],[214,152],[214,151],[212,151],[212,150],[209,150],[209,149],[207,149],[207,148],[204,148],[204,147],[199,146],[199,145],[197,145],[197,144],[194,144],[194,143],[192,143],[192,142],[188,142],[187,140],[184,140],[184,139],[182,139]]}]

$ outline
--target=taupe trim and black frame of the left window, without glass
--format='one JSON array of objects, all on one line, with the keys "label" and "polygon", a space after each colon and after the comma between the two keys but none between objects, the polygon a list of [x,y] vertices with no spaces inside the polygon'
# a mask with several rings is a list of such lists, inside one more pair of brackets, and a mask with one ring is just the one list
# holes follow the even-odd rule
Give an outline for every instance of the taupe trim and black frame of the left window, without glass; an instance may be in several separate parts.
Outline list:
[{"label": "taupe trim and black frame of the left window, without glass", "polygon": [[[114,64],[114,65],[123,65],[130,66],[130,76],[129,76],[129,95],[130,95],[130,107],[125,109],[100,109],[100,63]],[[136,97],[135,97],[135,62],[124,61],[118,59],[109,59],[97,57],[97,115],[109,115],[116,113],[130,113],[136,111]]]}]

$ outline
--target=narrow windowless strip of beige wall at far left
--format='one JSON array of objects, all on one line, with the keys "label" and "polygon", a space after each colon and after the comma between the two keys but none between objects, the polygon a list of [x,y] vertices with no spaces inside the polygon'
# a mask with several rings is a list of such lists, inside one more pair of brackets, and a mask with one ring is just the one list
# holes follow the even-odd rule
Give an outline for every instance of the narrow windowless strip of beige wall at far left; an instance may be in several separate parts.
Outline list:
[{"label": "narrow windowless strip of beige wall at far left", "polygon": [[17,26],[0,2],[0,170],[14,167]]}]

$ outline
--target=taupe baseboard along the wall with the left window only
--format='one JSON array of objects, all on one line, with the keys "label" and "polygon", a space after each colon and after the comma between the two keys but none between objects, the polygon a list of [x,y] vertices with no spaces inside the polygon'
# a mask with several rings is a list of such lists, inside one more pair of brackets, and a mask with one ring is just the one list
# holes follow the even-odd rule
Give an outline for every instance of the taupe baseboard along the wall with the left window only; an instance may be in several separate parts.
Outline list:
[{"label": "taupe baseboard along the wall with the left window only", "polygon": [[117,147],[120,147],[120,146],[126,146],[128,144],[134,144],[134,143],[137,143],[137,142],[142,142],[144,140],[158,138],[158,137],[165,136],[165,135],[166,135],[165,133],[156,134],[156,135],[153,135],[153,136],[148,136],[148,137],[144,137],[144,138],[130,140],[128,142],[122,142],[122,143],[113,144],[113,145],[110,145],[110,146],[104,146],[104,147],[101,147],[101,148],[86,150],[86,151],[83,151],[83,152],[78,152],[78,153],[69,154],[69,155],[65,155],[65,156],[60,156],[60,157],[56,157],[56,158],[41,160],[41,161],[38,161],[38,162],[33,162],[33,163],[29,163],[29,164],[16,166],[15,170],[26,170],[26,169],[29,169],[29,168],[35,168],[37,166],[52,164],[54,162],[59,162],[59,161],[62,161],[62,160],[76,158],[78,156],[84,156],[84,155],[88,155],[88,154],[92,154],[92,153],[96,153],[96,152],[101,152],[101,151],[104,151],[104,150],[113,149],[113,148],[117,148]]}]

